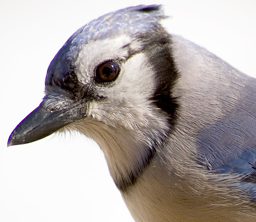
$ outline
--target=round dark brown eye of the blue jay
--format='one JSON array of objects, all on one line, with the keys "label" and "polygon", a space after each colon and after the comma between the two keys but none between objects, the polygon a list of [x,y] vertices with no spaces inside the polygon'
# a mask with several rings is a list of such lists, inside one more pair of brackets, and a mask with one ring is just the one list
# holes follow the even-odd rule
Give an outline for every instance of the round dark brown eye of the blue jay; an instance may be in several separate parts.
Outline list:
[{"label": "round dark brown eye of the blue jay", "polygon": [[96,67],[97,80],[102,83],[114,81],[120,72],[120,67],[116,61],[103,61]]}]

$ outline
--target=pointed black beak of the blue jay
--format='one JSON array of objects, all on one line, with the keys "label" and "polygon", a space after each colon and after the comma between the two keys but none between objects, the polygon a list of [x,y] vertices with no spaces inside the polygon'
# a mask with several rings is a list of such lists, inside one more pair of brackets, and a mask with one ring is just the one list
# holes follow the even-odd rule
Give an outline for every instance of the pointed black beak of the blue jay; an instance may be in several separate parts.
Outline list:
[{"label": "pointed black beak of the blue jay", "polygon": [[82,104],[74,104],[71,108],[59,108],[50,110],[43,103],[32,111],[12,131],[7,146],[26,144],[42,139],[69,123],[75,122],[83,117]]}]

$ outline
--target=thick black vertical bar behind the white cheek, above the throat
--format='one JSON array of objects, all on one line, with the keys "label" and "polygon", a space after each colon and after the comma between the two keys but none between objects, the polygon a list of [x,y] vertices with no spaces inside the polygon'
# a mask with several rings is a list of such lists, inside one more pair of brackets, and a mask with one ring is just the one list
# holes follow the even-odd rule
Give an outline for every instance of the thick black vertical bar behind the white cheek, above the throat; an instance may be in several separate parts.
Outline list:
[{"label": "thick black vertical bar behind the white cheek, above the throat", "polygon": [[164,34],[153,36],[148,45],[148,56],[150,63],[155,68],[157,87],[153,103],[168,114],[170,130],[175,126],[177,120],[178,98],[172,96],[172,89],[179,77],[172,56],[171,37]]}]

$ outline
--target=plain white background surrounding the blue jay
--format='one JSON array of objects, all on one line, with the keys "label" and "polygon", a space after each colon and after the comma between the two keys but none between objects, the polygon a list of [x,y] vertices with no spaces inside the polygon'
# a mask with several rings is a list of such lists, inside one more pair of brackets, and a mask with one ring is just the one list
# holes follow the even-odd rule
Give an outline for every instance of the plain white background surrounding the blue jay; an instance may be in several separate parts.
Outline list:
[{"label": "plain white background surrounding the blue jay", "polygon": [[48,65],[65,41],[90,20],[141,3],[164,4],[173,16],[165,21],[171,33],[256,74],[256,0],[2,0],[1,222],[133,221],[93,141],[63,135],[6,144],[16,125],[39,105]]}]

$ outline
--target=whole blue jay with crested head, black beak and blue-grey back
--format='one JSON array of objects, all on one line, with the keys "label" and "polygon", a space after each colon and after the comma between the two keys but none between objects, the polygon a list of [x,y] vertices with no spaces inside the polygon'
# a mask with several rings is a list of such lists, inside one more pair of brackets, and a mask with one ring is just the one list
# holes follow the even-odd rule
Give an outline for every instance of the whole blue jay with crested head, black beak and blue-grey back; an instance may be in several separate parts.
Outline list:
[{"label": "whole blue jay with crested head, black beak and blue-grey back", "polygon": [[136,222],[256,221],[256,79],[167,32],[166,18],[138,5],[81,27],[7,146],[92,138]]}]

